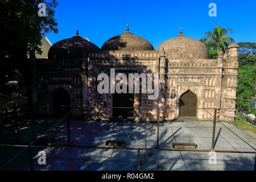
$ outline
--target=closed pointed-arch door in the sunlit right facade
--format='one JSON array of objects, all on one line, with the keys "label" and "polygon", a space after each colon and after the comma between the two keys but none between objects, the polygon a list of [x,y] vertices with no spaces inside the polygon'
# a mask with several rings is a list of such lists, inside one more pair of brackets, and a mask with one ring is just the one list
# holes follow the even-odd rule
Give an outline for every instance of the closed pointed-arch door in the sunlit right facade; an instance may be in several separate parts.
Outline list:
[{"label": "closed pointed-arch door in the sunlit right facade", "polygon": [[197,98],[191,91],[183,93],[180,97],[180,116],[196,116]]}]

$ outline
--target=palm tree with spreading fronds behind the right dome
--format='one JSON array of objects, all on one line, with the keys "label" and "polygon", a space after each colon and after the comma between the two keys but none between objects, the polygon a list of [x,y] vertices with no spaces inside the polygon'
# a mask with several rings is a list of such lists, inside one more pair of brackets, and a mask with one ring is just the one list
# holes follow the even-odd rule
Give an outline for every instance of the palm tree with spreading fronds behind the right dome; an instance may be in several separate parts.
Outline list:
[{"label": "palm tree with spreading fronds behind the right dome", "polygon": [[213,32],[206,32],[204,38],[200,39],[201,42],[207,46],[208,50],[213,49],[220,51],[220,48],[223,52],[226,51],[229,44],[234,43],[234,39],[230,38],[226,34],[233,33],[234,30],[230,28],[221,28],[220,24],[218,27],[213,28]]}]

